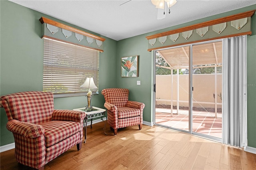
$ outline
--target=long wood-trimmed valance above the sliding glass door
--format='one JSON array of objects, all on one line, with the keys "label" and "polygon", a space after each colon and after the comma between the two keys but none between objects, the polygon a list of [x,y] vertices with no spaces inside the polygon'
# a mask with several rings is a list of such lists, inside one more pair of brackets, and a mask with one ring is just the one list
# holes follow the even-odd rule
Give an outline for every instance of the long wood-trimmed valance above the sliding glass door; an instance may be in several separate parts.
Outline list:
[{"label": "long wood-trimmed valance above the sliding glass door", "polygon": [[255,11],[256,10],[243,12],[147,36],[148,51],[188,43],[250,35],[252,34],[251,17],[254,15]]}]

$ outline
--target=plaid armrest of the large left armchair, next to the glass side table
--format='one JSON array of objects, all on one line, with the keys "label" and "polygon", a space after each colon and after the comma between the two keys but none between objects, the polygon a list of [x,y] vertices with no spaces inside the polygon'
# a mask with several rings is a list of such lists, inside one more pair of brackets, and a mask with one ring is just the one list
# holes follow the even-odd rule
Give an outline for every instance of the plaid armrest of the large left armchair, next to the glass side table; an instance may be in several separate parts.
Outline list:
[{"label": "plaid armrest of the large left armchair, next to the glass side table", "polygon": [[86,113],[70,110],[54,110],[52,113],[52,121],[73,121],[83,123]]}]

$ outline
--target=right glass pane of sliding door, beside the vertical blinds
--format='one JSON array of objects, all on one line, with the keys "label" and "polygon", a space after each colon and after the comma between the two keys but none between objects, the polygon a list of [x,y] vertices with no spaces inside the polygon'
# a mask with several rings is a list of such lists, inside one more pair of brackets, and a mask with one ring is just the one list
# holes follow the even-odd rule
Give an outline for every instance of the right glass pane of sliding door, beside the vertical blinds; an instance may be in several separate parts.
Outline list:
[{"label": "right glass pane of sliding door, beside the vertical blinds", "polygon": [[222,41],[193,45],[192,131],[222,138]]}]

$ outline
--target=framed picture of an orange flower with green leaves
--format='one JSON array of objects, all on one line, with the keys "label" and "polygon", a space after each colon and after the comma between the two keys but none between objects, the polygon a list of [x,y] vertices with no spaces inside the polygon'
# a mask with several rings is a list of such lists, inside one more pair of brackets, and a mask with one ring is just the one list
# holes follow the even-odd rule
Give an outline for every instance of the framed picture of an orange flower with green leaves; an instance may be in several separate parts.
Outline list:
[{"label": "framed picture of an orange flower with green leaves", "polygon": [[138,55],[122,57],[122,77],[138,77]]}]

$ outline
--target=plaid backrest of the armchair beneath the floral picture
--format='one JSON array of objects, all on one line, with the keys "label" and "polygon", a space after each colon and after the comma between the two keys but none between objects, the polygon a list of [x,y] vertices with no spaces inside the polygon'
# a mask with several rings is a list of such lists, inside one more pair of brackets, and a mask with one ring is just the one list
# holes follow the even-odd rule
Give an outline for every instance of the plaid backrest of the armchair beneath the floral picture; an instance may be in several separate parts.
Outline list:
[{"label": "plaid backrest of the armchair beneath the floral picture", "polygon": [[102,95],[104,95],[105,101],[115,105],[116,107],[126,107],[128,102],[128,89],[110,88],[103,89]]}]

